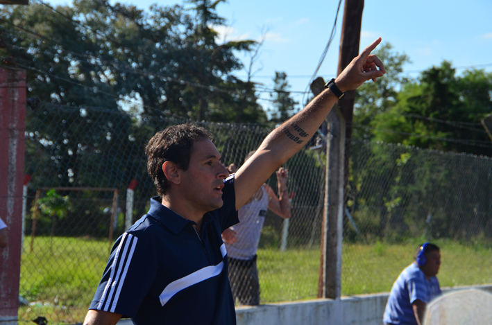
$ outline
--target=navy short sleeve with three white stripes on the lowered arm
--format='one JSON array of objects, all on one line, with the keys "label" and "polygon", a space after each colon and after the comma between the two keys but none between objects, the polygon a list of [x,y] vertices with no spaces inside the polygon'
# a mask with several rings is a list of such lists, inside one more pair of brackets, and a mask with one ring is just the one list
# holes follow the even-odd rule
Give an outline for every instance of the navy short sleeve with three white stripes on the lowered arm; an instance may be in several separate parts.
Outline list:
[{"label": "navy short sleeve with three white stripes on the lowered arm", "polygon": [[135,317],[157,273],[153,245],[142,232],[121,235],[89,309]]}]

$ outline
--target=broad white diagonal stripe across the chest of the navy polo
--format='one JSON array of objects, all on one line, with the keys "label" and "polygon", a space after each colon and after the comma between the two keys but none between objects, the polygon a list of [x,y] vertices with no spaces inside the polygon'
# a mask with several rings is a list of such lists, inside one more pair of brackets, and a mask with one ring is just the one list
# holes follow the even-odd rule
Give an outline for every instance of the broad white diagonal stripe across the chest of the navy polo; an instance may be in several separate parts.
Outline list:
[{"label": "broad white diagonal stripe across the chest of the navy polo", "polygon": [[[221,254],[222,258],[227,254],[226,245],[224,244],[221,245]],[[201,281],[205,281],[214,276],[217,276],[221,274],[222,270],[223,261],[221,261],[221,263],[217,265],[203,267],[202,269],[193,272],[192,274],[188,274],[181,279],[169,283],[159,296],[161,306],[167,304],[167,301],[169,301],[169,299],[171,299],[181,290],[194,286],[196,283],[200,283]]]}]

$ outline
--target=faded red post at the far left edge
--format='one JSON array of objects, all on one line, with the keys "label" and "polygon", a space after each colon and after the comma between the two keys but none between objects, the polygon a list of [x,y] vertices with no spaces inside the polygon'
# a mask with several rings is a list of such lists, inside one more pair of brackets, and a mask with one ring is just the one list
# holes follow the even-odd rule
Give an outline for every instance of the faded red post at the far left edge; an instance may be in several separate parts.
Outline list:
[{"label": "faded red post at the far left edge", "polygon": [[0,249],[0,322],[17,324],[21,266],[26,71],[0,67],[0,216],[8,246]]}]

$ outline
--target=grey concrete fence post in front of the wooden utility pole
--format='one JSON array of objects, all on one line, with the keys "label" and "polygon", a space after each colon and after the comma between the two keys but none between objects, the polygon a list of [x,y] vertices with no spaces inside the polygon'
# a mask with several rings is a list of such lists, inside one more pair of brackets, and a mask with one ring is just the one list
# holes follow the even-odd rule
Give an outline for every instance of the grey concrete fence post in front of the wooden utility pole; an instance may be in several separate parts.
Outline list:
[{"label": "grey concrete fence post in front of the wooden utility pole", "polygon": [[326,118],[326,173],[323,209],[323,298],[341,295],[341,246],[343,235],[343,184],[345,120],[337,107]]}]

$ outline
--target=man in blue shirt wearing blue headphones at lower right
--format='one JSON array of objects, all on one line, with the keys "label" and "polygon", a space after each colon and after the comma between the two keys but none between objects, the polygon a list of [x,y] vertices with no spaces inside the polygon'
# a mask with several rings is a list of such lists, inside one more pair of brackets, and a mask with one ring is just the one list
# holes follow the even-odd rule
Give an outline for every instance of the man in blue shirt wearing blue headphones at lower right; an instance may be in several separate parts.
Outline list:
[{"label": "man in blue shirt wearing blue headphones at lower right", "polygon": [[384,310],[384,324],[423,324],[427,304],[442,293],[436,278],[440,265],[439,247],[424,243],[417,248],[414,263],[393,283]]}]

